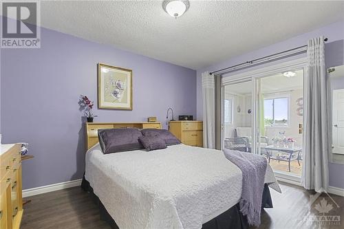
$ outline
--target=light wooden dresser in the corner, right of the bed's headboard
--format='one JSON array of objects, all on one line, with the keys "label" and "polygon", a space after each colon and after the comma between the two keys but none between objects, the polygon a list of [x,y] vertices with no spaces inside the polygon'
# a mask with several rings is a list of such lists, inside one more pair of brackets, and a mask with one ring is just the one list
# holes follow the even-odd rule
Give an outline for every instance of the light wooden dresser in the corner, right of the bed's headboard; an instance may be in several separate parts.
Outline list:
[{"label": "light wooden dresser in the corner, right of the bed's headboard", "polygon": [[203,147],[202,121],[171,121],[169,131],[184,144]]}]

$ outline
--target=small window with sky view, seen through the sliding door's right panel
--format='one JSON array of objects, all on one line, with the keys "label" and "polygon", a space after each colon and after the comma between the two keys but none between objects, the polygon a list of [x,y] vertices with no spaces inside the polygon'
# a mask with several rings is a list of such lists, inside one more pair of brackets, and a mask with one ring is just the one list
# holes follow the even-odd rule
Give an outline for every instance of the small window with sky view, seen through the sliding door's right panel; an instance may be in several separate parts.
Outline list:
[{"label": "small window with sky view, seen through the sliding door's right panel", "polygon": [[288,127],[289,98],[268,98],[264,100],[264,122],[266,127]]}]

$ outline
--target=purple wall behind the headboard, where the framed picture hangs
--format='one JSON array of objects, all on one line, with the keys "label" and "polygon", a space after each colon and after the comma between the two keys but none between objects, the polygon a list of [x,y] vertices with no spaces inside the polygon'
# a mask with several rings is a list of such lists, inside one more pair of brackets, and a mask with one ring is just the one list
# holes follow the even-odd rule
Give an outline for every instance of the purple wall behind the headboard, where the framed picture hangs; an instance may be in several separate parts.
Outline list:
[{"label": "purple wall behind the headboard, where the framed picture hangs", "polygon": [[[116,38],[114,38],[116,39]],[[97,100],[97,63],[133,70],[133,111],[98,110],[96,122],[146,121],[166,109],[196,114],[196,72],[42,28],[41,49],[1,50],[3,143],[29,142],[23,188],[81,178],[85,130],[78,97]]]}]

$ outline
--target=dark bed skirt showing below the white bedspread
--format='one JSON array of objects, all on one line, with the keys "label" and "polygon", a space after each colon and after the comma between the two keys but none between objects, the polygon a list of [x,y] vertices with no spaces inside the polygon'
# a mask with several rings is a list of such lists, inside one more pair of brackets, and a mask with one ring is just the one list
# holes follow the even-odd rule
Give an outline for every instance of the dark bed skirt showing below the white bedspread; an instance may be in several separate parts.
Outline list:
[{"label": "dark bed skirt showing below the white bedspread", "polygon": [[[83,182],[81,188],[89,193],[90,197],[95,204],[99,206],[100,219],[103,219],[109,223],[111,228],[119,229],[114,219],[112,219],[109,212],[105,209],[104,205],[94,194],[92,186],[89,185],[89,182],[83,177]],[[272,199],[270,196],[270,190],[267,184],[264,186],[263,198],[261,199],[262,208],[272,208]],[[202,225],[202,229],[248,229],[248,221],[246,216],[242,215],[239,211],[239,203],[223,212],[221,215],[218,215],[211,221],[208,221]]]}]

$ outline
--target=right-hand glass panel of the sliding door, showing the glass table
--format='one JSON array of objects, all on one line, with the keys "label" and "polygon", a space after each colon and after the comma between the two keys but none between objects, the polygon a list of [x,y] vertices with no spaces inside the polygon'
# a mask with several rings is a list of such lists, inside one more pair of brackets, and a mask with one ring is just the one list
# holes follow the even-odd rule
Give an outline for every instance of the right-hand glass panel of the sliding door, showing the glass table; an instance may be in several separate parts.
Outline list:
[{"label": "right-hand glass panel of the sliding door, showing the glass table", "polygon": [[278,173],[300,177],[303,69],[257,78],[257,152]]}]

